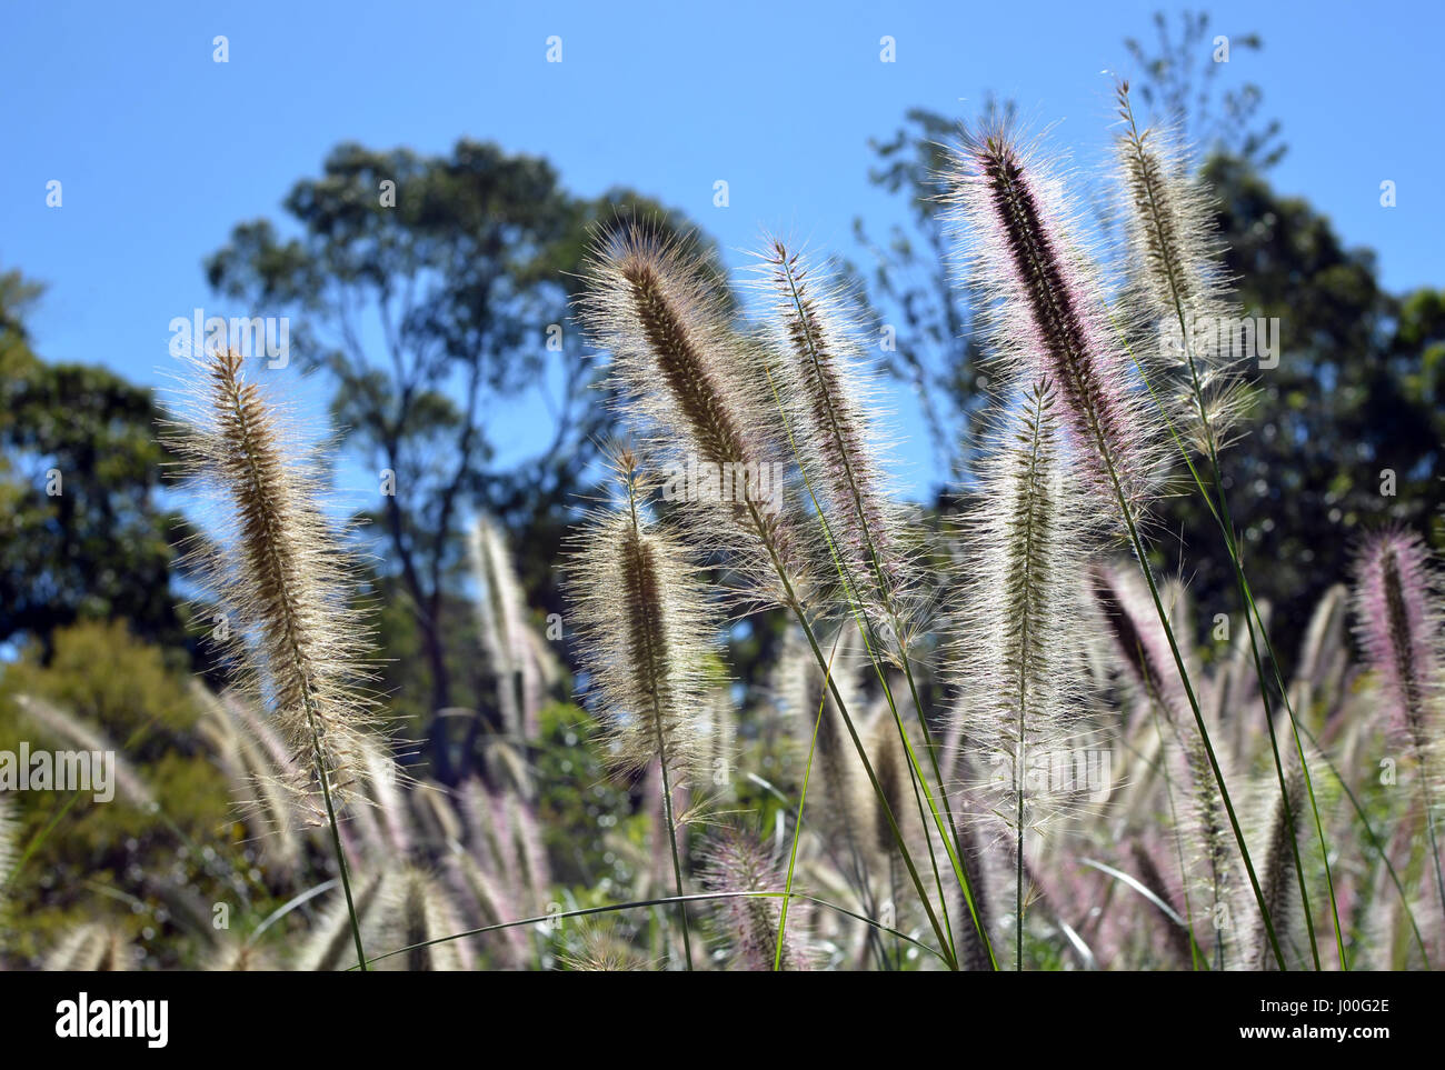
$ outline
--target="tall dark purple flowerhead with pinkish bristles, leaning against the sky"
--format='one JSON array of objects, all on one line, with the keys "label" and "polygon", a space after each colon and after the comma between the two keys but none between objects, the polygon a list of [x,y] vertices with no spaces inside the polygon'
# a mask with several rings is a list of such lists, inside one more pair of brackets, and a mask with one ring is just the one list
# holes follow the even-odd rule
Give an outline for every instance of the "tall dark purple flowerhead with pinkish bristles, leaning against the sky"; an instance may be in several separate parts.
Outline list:
[{"label": "tall dark purple flowerhead with pinkish bristles, leaning against the sky", "polygon": [[949,175],[971,282],[990,299],[988,335],[1010,386],[1049,380],[1084,474],[1143,505],[1159,479],[1156,417],[1136,388],[1095,264],[1078,243],[1062,179],[1004,123],[965,131]]}]

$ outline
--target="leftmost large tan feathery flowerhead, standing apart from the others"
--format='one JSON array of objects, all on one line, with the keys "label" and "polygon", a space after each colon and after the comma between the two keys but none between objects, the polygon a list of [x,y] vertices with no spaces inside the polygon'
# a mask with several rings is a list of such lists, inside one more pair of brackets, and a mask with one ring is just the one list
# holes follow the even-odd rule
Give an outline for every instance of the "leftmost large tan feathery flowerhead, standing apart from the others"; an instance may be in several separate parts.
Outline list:
[{"label": "leftmost large tan feathery flowerhead, standing apart from the others", "polygon": [[220,513],[217,541],[188,549],[189,566],[224,618],[212,638],[238,684],[267,703],[296,755],[296,787],[345,803],[364,775],[374,700],[368,614],[354,601],[354,565],[322,513],[321,458],[244,373],[236,352],[191,358],[178,420],[165,438],[181,474]]}]

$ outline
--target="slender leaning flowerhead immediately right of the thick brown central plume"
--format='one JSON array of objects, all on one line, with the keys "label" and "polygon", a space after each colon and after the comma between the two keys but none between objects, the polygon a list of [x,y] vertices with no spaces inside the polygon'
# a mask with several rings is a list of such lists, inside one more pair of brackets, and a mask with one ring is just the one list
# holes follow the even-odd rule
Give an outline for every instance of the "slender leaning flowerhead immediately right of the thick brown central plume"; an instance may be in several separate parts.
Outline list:
[{"label": "slender leaning flowerhead immediately right of the thick brown central plume", "polygon": [[779,238],[759,254],[757,286],[767,299],[769,344],[779,400],[793,413],[790,440],[806,487],[838,554],[848,601],[879,625],[907,617],[907,553],[897,508],[884,492],[883,443],[851,302],[837,284]]}]

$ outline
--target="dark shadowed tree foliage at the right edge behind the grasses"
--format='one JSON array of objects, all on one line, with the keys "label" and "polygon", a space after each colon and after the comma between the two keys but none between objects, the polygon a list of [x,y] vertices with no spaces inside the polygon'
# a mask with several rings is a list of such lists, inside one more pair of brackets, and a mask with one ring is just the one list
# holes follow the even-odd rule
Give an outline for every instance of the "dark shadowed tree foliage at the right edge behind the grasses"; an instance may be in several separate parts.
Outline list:
[{"label": "dark shadowed tree foliage at the right edge behind the grasses", "polygon": [[[1244,566],[1274,605],[1276,648],[1292,657],[1309,608],[1348,575],[1358,536],[1387,523],[1426,531],[1441,507],[1445,293],[1386,293],[1373,253],[1347,248],[1324,215],[1243,160],[1215,157],[1205,178],[1244,315],[1279,318],[1279,367],[1250,370],[1247,438],[1221,464]],[[1384,469],[1393,497],[1381,494]],[[1195,598],[1211,614],[1233,611],[1214,521],[1194,497],[1165,516],[1183,531]]]}]

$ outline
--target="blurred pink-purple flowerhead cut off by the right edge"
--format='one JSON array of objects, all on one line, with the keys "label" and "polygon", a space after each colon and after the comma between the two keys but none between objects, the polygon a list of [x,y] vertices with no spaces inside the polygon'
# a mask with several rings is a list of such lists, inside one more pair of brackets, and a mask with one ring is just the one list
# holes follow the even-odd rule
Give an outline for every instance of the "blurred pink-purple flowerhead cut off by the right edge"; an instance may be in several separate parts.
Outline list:
[{"label": "blurred pink-purple flowerhead cut off by the right edge", "polygon": [[1355,560],[1360,644],[1396,729],[1423,754],[1439,725],[1442,687],[1439,579],[1413,531],[1374,536]]}]

